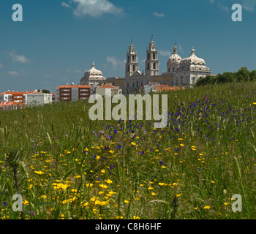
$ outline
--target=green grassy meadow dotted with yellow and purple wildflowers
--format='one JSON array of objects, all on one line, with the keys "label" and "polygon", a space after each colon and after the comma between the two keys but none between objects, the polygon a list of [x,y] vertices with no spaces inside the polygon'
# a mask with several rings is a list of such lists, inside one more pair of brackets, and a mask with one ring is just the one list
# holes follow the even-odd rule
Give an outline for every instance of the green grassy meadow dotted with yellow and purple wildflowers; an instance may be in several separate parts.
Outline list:
[{"label": "green grassy meadow dotted with yellow and purple wildflowers", "polygon": [[164,129],[88,101],[0,112],[0,218],[255,219],[256,83],[167,94]]}]

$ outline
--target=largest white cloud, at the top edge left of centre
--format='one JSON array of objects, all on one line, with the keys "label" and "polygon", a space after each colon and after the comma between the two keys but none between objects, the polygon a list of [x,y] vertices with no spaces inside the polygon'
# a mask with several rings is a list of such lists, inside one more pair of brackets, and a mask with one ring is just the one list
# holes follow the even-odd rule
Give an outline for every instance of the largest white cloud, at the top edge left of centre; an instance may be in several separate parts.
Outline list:
[{"label": "largest white cloud, at the top edge left of centre", "polygon": [[[89,15],[91,17],[100,17],[105,13],[118,15],[123,12],[121,7],[116,7],[108,0],[72,0],[71,4],[61,3],[62,7],[71,8],[76,17]],[[73,8],[72,5],[75,5]]]}]

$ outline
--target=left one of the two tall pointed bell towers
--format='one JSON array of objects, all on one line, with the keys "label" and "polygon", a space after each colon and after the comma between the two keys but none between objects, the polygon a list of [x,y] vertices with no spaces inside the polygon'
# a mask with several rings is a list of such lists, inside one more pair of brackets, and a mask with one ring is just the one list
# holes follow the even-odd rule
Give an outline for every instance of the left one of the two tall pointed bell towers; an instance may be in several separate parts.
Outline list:
[{"label": "left one of the two tall pointed bell towers", "polygon": [[135,52],[135,47],[132,45],[129,46],[129,52],[127,51],[127,62],[125,64],[125,77],[129,78],[138,70],[138,57],[137,51]]}]

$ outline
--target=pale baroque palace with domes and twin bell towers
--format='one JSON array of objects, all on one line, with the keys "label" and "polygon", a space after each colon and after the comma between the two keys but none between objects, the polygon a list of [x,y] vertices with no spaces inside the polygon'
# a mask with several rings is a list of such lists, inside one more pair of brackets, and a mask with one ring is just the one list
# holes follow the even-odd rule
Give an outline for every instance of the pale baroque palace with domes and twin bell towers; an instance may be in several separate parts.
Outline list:
[{"label": "pale baroque palace with domes and twin bell towers", "polygon": [[148,83],[159,83],[168,86],[192,88],[197,80],[211,75],[211,70],[206,67],[206,61],[195,56],[195,49],[192,48],[191,54],[185,59],[177,53],[174,45],[173,54],[167,59],[166,72],[159,73],[158,50],[153,37],[146,50],[145,72],[140,72],[138,66],[138,55],[135,46],[131,42],[127,51],[125,64],[125,77],[103,78],[102,72],[95,72],[94,64],[91,70],[85,73],[80,80],[80,84],[101,85],[103,83],[113,83],[123,90],[123,94],[138,93],[143,86]]}]

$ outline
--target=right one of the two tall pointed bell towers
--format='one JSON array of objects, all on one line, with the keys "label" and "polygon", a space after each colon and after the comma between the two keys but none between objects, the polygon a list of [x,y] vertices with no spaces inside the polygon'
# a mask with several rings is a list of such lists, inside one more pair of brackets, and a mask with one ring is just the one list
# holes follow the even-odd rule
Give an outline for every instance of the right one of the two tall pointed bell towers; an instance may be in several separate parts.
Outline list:
[{"label": "right one of the two tall pointed bell towers", "polygon": [[149,48],[147,48],[146,52],[145,74],[159,75],[158,51],[153,36],[151,37],[151,42],[149,43]]}]

